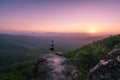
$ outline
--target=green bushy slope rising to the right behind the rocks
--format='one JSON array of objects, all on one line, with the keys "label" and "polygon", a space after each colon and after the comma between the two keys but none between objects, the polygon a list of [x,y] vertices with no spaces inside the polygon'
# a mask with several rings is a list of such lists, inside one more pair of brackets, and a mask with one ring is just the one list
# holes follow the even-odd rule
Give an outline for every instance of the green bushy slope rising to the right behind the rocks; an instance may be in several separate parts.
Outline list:
[{"label": "green bushy slope rising to the right behind the rocks", "polygon": [[100,41],[94,41],[79,49],[65,54],[79,70],[80,80],[86,80],[90,68],[93,68],[101,59],[108,59],[107,53],[115,46],[120,47],[120,35],[110,36]]}]

